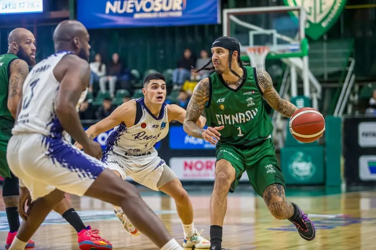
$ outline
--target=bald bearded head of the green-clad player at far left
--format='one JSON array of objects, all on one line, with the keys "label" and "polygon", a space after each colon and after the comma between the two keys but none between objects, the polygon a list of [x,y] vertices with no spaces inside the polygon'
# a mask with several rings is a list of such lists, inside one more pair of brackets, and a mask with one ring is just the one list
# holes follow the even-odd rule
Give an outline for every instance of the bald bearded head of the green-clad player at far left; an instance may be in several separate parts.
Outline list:
[{"label": "bald bearded head of the green-clad player at far left", "polygon": [[33,33],[24,28],[16,28],[8,36],[8,53],[15,54],[30,66],[35,65],[35,38]]}]

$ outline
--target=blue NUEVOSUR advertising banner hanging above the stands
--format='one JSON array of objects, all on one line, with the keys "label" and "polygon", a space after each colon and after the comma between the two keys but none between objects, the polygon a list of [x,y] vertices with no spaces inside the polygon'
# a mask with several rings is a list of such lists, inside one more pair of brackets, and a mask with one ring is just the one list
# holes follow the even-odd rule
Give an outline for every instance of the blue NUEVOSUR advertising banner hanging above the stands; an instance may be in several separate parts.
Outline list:
[{"label": "blue NUEVOSUR advertising banner hanging above the stands", "polygon": [[88,29],[217,24],[220,10],[220,0],[77,0]]}]

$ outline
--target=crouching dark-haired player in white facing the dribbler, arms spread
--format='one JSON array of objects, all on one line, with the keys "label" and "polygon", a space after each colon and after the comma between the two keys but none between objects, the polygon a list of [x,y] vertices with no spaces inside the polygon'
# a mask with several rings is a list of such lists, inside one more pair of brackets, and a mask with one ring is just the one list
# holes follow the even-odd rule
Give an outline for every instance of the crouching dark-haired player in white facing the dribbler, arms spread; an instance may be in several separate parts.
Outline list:
[{"label": "crouching dark-haired player in white facing the dribbler, arms spread", "polygon": [[[154,148],[167,135],[169,122],[183,123],[186,111],[175,104],[166,104],[166,78],[160,73],[145,77],[143,93],[145,97],[122,104],[111,115],[88,128],[86,134],[93,139],[115,128],[106,140],[102,161],[123,179],[130,176],[136,182],[172,197],[183,224],[183,247],[209,249],[209,241],[194,228],[188,193]],[[198,125],[204,127],[205,123],[206,118],[201,116]],[[77,143],[75,145],[82,148]],[[118,206],[114,209],[125,230],[139,235],[137,226],[134,227],[126,218],[125,210]]]}]

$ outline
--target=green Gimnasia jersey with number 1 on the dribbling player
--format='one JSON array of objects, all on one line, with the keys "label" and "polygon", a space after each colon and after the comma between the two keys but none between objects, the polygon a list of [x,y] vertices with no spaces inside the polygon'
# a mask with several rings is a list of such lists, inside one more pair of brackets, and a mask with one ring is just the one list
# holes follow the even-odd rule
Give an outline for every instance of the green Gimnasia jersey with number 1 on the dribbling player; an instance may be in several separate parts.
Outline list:
[{"label": "green Gimnasia jersey with number 1 on the dribbling player", "polygon": [[256,69],[243,67],[246,77],[236,90],[217,73],[209,77],[210,97],[205,107],[210,127],[225,126],[219,143],[252,147],[272,134],[273,124],[256,84]]}]

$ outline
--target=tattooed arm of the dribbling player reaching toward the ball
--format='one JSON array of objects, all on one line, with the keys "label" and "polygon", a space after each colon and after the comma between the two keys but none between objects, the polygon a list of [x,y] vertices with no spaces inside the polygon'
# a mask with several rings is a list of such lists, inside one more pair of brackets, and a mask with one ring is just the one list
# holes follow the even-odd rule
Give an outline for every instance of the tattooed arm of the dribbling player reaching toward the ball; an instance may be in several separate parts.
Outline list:
[{"label": "tattooed arm of the dribbling player reaching toward the ball", "polygon": [[263,97],[269,105],[286,117],[291,115],[298,109],[288,100],[282,99],[273,87],[272,77],[265,70],[256,69],[257,83],[263,92]]}]

